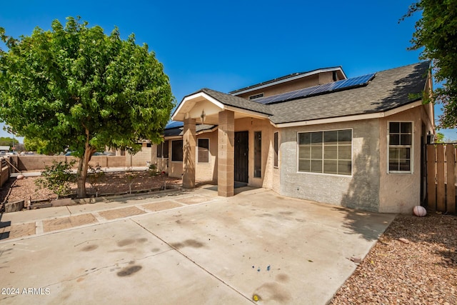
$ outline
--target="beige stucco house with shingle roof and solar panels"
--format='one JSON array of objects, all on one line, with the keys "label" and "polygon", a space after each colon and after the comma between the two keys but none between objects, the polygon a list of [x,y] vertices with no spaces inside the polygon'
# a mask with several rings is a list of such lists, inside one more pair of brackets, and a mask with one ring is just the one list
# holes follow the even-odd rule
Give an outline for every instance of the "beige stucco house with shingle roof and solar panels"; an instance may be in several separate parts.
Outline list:
[{"label": "beige stucco house with shingle roof and solar panels", "polygon": [[[183,186],[238,185],[354,209],[409,213],[425,198],[435,134],[430,62],[348,79],[341,67],[184,97],[155,160]],[[154,153],[153,153],[154,154]]]}]

